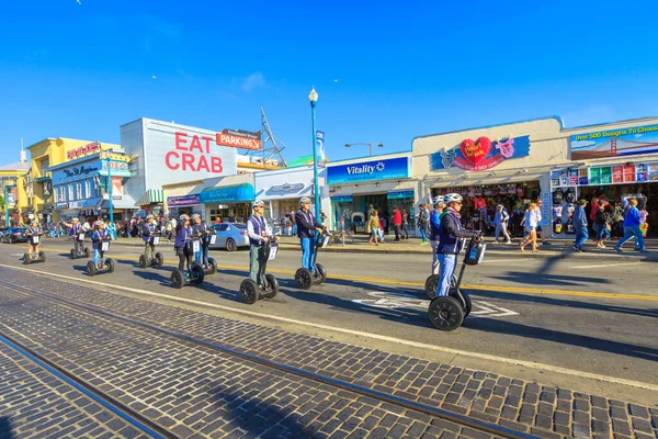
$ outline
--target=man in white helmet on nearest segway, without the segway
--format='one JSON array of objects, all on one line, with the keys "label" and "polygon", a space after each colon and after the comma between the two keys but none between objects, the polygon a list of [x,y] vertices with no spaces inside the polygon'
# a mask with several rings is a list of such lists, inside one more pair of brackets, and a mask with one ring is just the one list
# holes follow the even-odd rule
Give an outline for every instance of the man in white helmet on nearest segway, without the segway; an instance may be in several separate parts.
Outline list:
[{"label": "man in white helmet on nearest segway, without the segway", "polygon": [[457,254],[462,249],[462,239],[474,238],[476,243],[479,241],[479,232],[462,228],[460,222],[462,201],[462,195],[458,193],[449,193],[443,198],[445,210],[440,216],[441,227],[439,229],[439,245],[436,246],[439,266],[441,267],[441,279],[436,288],[436,296],[449,295],[450,283],[456,268]]}]

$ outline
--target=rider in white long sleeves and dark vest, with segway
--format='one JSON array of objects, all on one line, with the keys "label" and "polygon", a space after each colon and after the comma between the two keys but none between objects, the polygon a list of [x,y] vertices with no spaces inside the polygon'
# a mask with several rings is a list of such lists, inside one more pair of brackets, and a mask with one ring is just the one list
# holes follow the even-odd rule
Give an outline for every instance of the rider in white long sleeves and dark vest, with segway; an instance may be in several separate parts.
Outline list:
[{"label": "rider in white long sleeves and dark vest, with segway", "polygon": [[276,257],[279,238],[272,235],[270,225],[263,217],[265,203],[257,200],[251,203],[253,215],[247,219],[249,234],[249,279],[240,284],[240,296],[245,303],[253,304],[261,297],[272,299],[279,293],[279,281],[265,273],[268,261]]}]

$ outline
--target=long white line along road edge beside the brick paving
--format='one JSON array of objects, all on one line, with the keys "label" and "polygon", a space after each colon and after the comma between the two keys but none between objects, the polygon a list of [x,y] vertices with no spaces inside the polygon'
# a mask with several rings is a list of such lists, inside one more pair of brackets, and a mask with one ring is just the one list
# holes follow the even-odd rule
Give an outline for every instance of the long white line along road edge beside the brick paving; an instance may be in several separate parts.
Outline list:
[{"label": "long white line along road edge beside the brick paving", "polygon": [[115,290],[123,290],[123,291],[131,292],[131,293],[150,295],[154,297],[161,297],[161,299],[169,300],[169,301],[202,306],[204,308],[223,309],[223,311],[228,311],[231,313],[249,315],[252,317],[285,322],[285,323],[294,324],[294,325],[308,326],[308,327],[316,328],[316,329],[333,330],[336,333],[343,333],[343,334],[349,334],[351,336],[358,336],[358,337],[368,337],[368,338],[372,338],[375,340],[395,342],[395,344],[399,344],[399,345],[411,346],[411,347],[419,348],[419,349],[434,350],[438,352],[445,352],[445,353],[451,353],[454,356],[470,357],[470,358],[480,359],[480,360],[497,361],[497,362],[506,363],[506,364],[521,365],[524,368],[545,370],[545,371],[561,373],[565,375],[585,378],[585,379],[589,379],[589,380],[599,380],[599,381],[604,381],[604,382],[612,383],[612,384],[622,384],[622,385],[628,385],[632,387],[645,389],[645,390],[649,390],[653,392],[658,392],[658,385],[651,384],[651,383],[643,383],[642,381],[625,380],[622,378],[601,375],[598,373],[583,372],[583,371],[579,371],[579,370],[575,370],[575,369],[560,368],[558,365],[537,363],[534,361],[515,360],[513,358],[498,357],[498,356],[491,356],[488,353],[480,353],[480,352],[469,352],[469,351],[462,350],[462,349],[445,348],[445,347],[436,346],[436,345],[428,345],[428,344],[423,344],[423,342],[419,342],[419,341],[405,340],[402,338],[397,338],[397,337],[389,337],[389,336],[384,336],[384,335],[379,335],[379,334],[364,333],[362,330],[352,330],[352,329],[340,328],[340,327],[336,327],[336,326],[297,320],[294,318],[273,316],[271,314],[262,314],[262,313],[257,313],[257,312],[248,311],[248,309],[240,309],[240,308],[232,308],[230,306],[216,305],[214,303],[194,301],[191,299],[177,297],[177,296],[171,296],[171,295],[167,295],[167,294],[159,294],[159,293],[154,293],[154,292],[147,291],[147,290],[132,289],[128,286],[121,286],[121,285],[112,285],[110,283],[90,281],[88,279],[72,278],[70,275],[56,274],[56,273],[52,273],[48,271],[31,270],[27,268],[13,267],[13,266],[4,264],[4,263],[0,263],[0,267],[4,267],[8,269],[12,269],[12,270],[19,270],[19,271],[27,271],[33,274],[37,274],[37,275],[42,275],[42,277],[46,277],[46,278],[69,279],[69,280],[76,281],[76,282],[86,282],[86,283],[90,283],[90,284],[94,284],[94,285],[107,286],[107,288],[115,289]]}]

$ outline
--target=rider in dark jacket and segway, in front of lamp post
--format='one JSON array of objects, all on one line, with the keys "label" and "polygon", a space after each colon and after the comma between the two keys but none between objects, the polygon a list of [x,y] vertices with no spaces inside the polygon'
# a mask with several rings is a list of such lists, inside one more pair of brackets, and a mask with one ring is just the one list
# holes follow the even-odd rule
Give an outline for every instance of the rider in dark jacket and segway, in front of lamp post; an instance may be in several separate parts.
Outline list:
[{"label": "rider in dark jacket and segway, in front of lamp post", "polygon": [[[302,245],[302,268],[295,272],[295,283],[300,290],[309,290],[314,284],[320,284],[327,279],[325,267],[316,262],[317,250],[327,245],[327,227],[318,223],[310,212],[310,200],[304,196],[299,200],[299,210],[295,214],[297,236]],[[317,230],[322,230],[319,237]]]}]

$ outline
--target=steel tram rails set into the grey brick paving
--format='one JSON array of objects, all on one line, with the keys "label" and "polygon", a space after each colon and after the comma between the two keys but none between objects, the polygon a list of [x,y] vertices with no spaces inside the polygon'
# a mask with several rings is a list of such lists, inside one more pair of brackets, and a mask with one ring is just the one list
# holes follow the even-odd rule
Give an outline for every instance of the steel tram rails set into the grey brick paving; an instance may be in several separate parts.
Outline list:
[{"label": "steel tram rails set into the grey brick paving", "polygon": [[[242,351],[239,351],[239,350],[236,350],[236,349],[232,349],[232,348],[229,348],[227,346],[223,346],[223,345],[219,345],[216,342],[201,340],[193,336],[180,334],[180,333],[177,333],[177,331],[173,331],[170,329],[166,329],[166,328],[162,328],[162,327],[159,327],[156,325],[151,325],[149,323],[137,320],[135,318],[117,315],[117,314],[107,312],[105,309],[98,308],[95,306],[89,305],[89,304],[80,302],[80,301],[65,299],[65,297],[58,296],[56,294],[52,294],[52,293],[41,291],[41,290],[31,289],[31,288],[15,284],[13,282],[5,281],[5,280],[1,280],[0,285],[3,285],[10,290],[13,290],[16,293],[23,294],[23,295],[38,297],[41,300],[45,300],[47,302],[50,302],[50,303],[54,303],[57,305],[63,305],[63,306],[76,309],[78,312],[81,311],[90,316],[103,316],[109,319],[114,319],[114,320],[121,322],[122,324],[129,324],[129,325],[134,325],[134,326],[137,326],[140,328],[146,328],[146,329],[166,335],[168,337],[174,338],[179,341],[190,344],[191,346],[203,347],[203,348],[209,349],[212,351],[220,352],[223,354],[230,356],[232,358],[237,358],[237,359],[241,360],[242,362],[258,364],[258,365],[271,369],[271,370],[288,373],[288,374],[296,375],[296,376],[299,376],[299,378],[303,378],[306,380],[311,380],[319,384],[330,385],[330,386],[337,387],[339,390],[352,392],[360,396],[375,398],[377,401],[393,404],[393,405],[396,405],[396,406],[405,408],[405,409],[415,410],[418,413],[429,415],[434,418],[439,418],[439,419],[443,419],[443,420],[446,420],[450,423],[457,424],[463,427],[468,427],[472,429],[479,430],[481,432],[494,435],[495,437],[500,437],[500,438],[535,438],[536,437],[536,436],[533,436],[533,435],[530,435],[530,434],[526,434],[523,431],[513,430],[513,429],[502,427],[502,426],[499,426],[499,425],[496,425],[492,423],[487,423],[487,421],[475,419],[475,418],[472,418],[472,417],[468,417],[465,415],[452,413],[452,412],[445,410],[443,408],[439,408],[439,407],[434,407],[434,406],[419,403],[416,401],[386,394],[386,393],[383,393],[383,392],[379,392],[376,390],[372,390],[372,389],[364,387],[364,386],[361,386],[358,384],[337,380],[333,378],[325,376],[319,373],[315,373],[311,371],[295,368],[295,367],[292,367],[292,365],[288,365],[285,363],[281,363],[281,362],[277,362],[274,360],[270,360],[270,359],[266,359],[263,357],[242,352]],[[4,336],[4,334],[2,334],[2,333],[3,331],[0,330],[0,335]],[[10,338],[8,337],[8,339],[10,339]],[[24,349],[26,352],[30,352],[29,349],[20,346],[20,344],[18,344],[15,340],[11,340],[11,341],[13,344],[15,344],[16,346],[21,347],[22,349]],[[36,352],[31,352],[31,353],[36,353]],[[43,356],[35,354],[35,358],[42,360],[44,363],[49,363],[47,361],[47,359],[43,358]],[[61,371],[61,372],[66,373],[66,371]],[[68,375],[71,380],[76,379],[75,376],[72,376],[70,374],[68,374]],[[76,379],[76,380],[80,381],[78,379]],[[100,393],[98,395],[98,397],[105,397],[105,398],[109,398],[109,401],[114,402],[111,396],[103,395],[102,392],[99,392],[98,390],[93,389],[93,386],[89,386],[89,387],[92,387],[92,389],[90,389],[90,391],[94,390],[97,393]],[[126,410],[125,412],[126,414],[129,414],[131,416],[137,415],[137,416],[134,416],[135,419],[140,420],[140,418],[143,418],[139,414],[134,413],[134,410],[132,410],[129,407],[123,407],[123,404],[121,404],[120,402],[115,402],[115,403],[117,403],[116,407],[121,407],[123,410]],[[146,421],[148,421],[149,424],[152,424],[148,419],[146,419],[146,418],[144,418],[144,419]],[[159,430],[162,429],[159,426],[156,426],[156,427],[158,427],[158,429],[154,429],[154,431],[156,431],[156,432],[158,432]],[[164,430],[164,432],[167,432],[167,431]],[[167,432],[167,434],[169,436],[162,435],[160,437],[164,437],[164,438],[174,437],[174,436],[171,436],[170,432]]]}]

